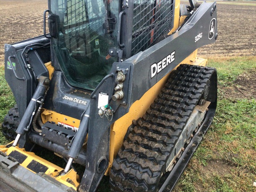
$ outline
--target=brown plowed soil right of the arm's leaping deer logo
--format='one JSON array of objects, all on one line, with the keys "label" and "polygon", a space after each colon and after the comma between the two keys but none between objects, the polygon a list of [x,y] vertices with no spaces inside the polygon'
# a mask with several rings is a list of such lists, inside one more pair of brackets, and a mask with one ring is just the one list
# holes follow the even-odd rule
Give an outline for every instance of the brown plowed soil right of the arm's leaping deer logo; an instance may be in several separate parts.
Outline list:
[{"label": "brown plowed soil right of the arm's leaping deer logo", "polygon": [[255,13],[256,6],[217,3],[218,39],[200,48],[199,56],[256,56]]}]

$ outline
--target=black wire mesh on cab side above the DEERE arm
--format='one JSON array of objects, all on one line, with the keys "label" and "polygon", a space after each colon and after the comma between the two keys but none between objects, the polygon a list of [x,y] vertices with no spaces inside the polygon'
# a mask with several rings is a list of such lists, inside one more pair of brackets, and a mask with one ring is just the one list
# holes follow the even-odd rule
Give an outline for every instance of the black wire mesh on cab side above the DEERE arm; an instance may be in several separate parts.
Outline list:
[{"label": "black wire mesh on cab side above the DEERE arm", "polygon": [[174,0],[134,0],[132,55],[149,48],[173,27]]}]

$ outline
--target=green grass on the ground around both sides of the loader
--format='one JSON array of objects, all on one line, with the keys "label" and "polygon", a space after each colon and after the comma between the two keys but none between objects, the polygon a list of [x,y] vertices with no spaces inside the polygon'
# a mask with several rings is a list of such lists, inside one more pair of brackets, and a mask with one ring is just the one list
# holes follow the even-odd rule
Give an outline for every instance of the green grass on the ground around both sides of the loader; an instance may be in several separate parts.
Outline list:
[{"label": "green grass on the ground around both sides of the loader", "polygon": [[[233,86],[239,75],[256,71],[256,57],[209,59],[208,65],[218,71],[216,116],[174,191],[256,191],[252,186],[256,180],[256,96],[236,98],[236,93],[224,91]],[[0,78],[2,122],[15,101],[4,80],[3,67],[0,67]],[[0,142],[6,143],[2,135]],[[108,177],[105,177],[98,192],[109,191]]]}]

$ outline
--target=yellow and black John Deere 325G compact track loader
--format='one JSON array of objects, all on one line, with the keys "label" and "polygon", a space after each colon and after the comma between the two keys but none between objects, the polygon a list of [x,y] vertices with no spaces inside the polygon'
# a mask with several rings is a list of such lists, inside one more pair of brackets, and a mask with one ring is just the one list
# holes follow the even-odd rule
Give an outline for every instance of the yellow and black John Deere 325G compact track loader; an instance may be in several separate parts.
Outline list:
[{"label": "yellow and black John Deere 325G compact track loader", "polygon": [[48,7],[44,35],[5,44],[16,106],[2,124],[12,142],[0,146],[0,191],[94,192],[104,175],[114,192],[172,191],[215,114],[216,69],[197,48],[217,38],[216,3]]}]

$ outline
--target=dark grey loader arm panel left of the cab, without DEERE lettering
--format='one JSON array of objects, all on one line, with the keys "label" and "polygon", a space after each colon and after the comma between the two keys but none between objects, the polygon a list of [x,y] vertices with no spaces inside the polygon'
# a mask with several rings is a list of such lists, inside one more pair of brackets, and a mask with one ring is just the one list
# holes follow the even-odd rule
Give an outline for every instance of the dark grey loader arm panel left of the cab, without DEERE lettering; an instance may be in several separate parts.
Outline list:
[{"label": "dark grey loader arm panel left of the cab, without DEERE lettering", "polygon": [[[50,48],[29,49],[35,45],[42,46],[48,43],[48,39],[39,36],[11,45],[5,44],[5,79],[12,89],[18,105],[20,118],[22,118],[35,90],[36,80],[34,76],[49,76],[44,63],[50,61]],[[29,61],[26,61],[24,56],[26,53],[28,54]]]}]

